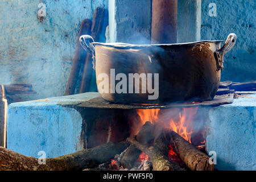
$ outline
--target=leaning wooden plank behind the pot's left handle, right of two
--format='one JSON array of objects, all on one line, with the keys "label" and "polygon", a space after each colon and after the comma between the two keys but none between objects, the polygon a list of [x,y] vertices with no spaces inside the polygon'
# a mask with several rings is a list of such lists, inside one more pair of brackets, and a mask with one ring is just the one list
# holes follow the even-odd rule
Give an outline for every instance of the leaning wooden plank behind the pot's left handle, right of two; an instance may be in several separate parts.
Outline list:
[{"label": "leaning wooden plank behind the pot's left handle, right of two", "polygon": [[81,65],[85,61],[86,52],[80,46],[79,38],[81,35],[90,34],[90,28],[92,26],[92,22],[89,19],[82,20],[79,35],[76,42],[76,51],[75,56],[73,57],[72,68],[68,79],[67,88],[65,91],[65,96],[71,95],[75,93],[76,84],[79,77],[79,71],[81,69]]}]

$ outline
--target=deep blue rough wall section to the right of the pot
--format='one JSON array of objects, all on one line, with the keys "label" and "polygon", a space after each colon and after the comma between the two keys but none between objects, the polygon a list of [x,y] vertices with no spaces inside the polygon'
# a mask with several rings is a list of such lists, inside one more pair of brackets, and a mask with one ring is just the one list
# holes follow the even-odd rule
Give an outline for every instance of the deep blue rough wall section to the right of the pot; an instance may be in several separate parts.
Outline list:
[{"label": "deep blue rough wall section to the right of the pot", "polygon": [[[209,16],[210,3],[216,3],[217,16]],[[237,34],[237,43],[225,55],[221,80],[256,80],[256,1],[204,0],[201,12],[201,40],[226,40]]]}]

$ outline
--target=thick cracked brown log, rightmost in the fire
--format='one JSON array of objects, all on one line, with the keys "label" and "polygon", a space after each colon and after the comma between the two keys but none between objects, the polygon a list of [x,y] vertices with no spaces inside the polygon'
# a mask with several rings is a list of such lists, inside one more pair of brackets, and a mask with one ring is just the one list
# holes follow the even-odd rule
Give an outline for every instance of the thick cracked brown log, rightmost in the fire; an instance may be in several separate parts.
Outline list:
[{"label": "thick cracked brown log, rightmost in the fire", "polygon": [[214,164],[209,164],[208,155],[198,150],[174,131],[165,130],[165,134],[170,135],[172,147],[189,169],[192,171],[213,171]]}]

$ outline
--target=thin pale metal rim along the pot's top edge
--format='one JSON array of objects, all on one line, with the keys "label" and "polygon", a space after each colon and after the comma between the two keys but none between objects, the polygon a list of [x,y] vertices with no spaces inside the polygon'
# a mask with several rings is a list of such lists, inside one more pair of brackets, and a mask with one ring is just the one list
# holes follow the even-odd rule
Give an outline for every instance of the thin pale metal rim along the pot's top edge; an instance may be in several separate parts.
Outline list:
[{"label": "thin pale metal rim along the pot's top edge", "polygon": [[141,48],[141,47],[151,47],[151,46],[184,46],[184,45],[195,45],[200,43],[222,43],[224,40],[200,40],[197,42],[188,43],[174,43],[174,44],[127,44],[127,43],[101,43],[93,42],[94,45],[114,47],[114,48]]}]

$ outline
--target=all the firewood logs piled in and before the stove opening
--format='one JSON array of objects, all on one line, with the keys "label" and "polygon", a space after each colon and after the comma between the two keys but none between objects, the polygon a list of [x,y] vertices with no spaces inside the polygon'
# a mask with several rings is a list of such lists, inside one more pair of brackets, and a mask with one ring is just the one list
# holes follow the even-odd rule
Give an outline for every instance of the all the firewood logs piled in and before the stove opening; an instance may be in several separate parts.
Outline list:
[{"label": "all the firewood logs piled in and before the stove opening", "polygon": [[[0,147],[0,170],[82,170],[94,168],[99,164],[108,163],[115,155],[124,152],[121,160],[123,168],[134,168],[134,162],[144,152],[148,155],[154,171],[173,171],[184,169],[184,166],[174,163],[168,158],[171,145],[179,159],[192,171],[212,171],[213,164],[209,164],[209,156],[183,139],[170,129],[159,131],[154,139],[155,127],[146,122],[138,135],[127,138],[127,142],[105,143],[101,146],[81,150],[73,154],[46,159],[46,164],[38,164],[38,159],[18,154]],[[154,141],[154,142],[153,142]],[[130,146],[129,146],[129,143]],[[127,148],[128,147],[128,148]],[[127,150],[125,151],[125,149]],[[120,165],[120,162],[119,162]],[[183,164],[182,164],[183,165]],[[121,167],[121,166],[120,166]]]}]

